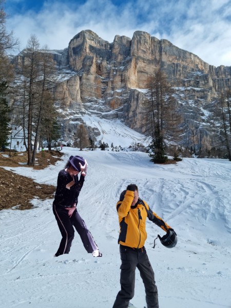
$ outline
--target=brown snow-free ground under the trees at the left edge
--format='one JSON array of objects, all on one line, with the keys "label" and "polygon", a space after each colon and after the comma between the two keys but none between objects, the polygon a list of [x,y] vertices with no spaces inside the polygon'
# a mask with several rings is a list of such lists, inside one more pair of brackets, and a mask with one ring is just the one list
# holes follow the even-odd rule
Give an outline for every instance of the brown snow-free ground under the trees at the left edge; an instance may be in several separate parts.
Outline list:
[{"label": "brown snow-free ground under the trees at the left edge", "polygon": [[[63,153],[59,151],[44,151],[37,154],[34,167],[26,165],[27,153],[17,152],[16,155],[9,152],[0,152],[0,166],[18,167],[24,166],[36,170],[44,169],[50,164],[60,160]],[[29,209],[33,205],[30,200],[53,199],[55,186],[38,184],[32,179],[15,174],[12,171],[0,167],[0,210],[16,206],[17,209]]]}]

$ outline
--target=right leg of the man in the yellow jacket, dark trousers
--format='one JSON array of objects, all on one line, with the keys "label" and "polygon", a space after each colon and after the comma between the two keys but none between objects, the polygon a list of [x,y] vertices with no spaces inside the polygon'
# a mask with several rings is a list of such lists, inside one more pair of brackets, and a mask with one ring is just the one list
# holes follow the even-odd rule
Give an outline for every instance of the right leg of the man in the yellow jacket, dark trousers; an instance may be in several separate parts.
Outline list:
[{"label": "right leg of the man in the yellow jacket, dark trousers", "polygon": [[155,275],[145,249],[143,252],[139,253],[139,263],[137,268],[140,271],[140,276],[144,283],[147,308],[159,308]]}]

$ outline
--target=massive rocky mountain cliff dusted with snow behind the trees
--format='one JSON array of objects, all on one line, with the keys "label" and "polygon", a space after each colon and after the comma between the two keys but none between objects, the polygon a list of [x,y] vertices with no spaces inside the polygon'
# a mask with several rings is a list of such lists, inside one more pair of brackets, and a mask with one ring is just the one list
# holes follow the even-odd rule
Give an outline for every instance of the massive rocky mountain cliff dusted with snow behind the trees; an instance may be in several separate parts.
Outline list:
[{"label": "massive rocky mountain cliff dusted with snow behind the trees", "polygon": [[[53,95],[62,100],[63,137],[71,139],[83,115],[119,119],[143,133],[143,102],[147,79],[162,68],[176,90],[182,114],[183,146],[210,148],[216,145],[213,109],[221,90],[230,88],[231,67],[211,66],[197,55],[167,40],[136,31],[132,38],[116,35],[113,43],[91,30],[81,31],[62,51],[50,51],[60,71]],[[97,126],[88,127],[91,138]]]}]

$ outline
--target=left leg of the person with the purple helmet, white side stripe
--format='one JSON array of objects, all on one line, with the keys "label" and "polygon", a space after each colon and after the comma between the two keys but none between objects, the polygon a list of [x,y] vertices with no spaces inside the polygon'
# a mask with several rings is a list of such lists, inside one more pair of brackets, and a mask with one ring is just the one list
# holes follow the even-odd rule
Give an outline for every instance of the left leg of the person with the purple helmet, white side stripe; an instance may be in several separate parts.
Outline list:
[{"label": "left leg of the person with the purple helmet, white side stripe", "polygon": [[62,235],[60,247],[55,254],[55,256],[58,257],[60,255],[69,253],[71,243],[74,238],[74,228],[66,209],[57,209],[55,205],[53,205],[53,213]]}]

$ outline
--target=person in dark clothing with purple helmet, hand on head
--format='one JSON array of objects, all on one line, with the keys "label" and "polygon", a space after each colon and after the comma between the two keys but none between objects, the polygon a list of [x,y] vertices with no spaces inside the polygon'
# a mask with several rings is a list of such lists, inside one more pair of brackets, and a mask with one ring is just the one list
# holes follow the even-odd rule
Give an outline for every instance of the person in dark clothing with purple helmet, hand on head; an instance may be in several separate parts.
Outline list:
[{"label": "person in dark clothing with purple helmet, hand on head", "polygon": [[[81,156],[71,156],[63,170],[59,172],[53,201],[53,213],[62,239],[54,257],[68,254],[74,238],[74,228],[79,233],[83,245],[93,257],[102,257],[99,248],[81,218],[76,205],[87,172],[87,161]],[[80,174],[80,179],[78,178]]]}]

